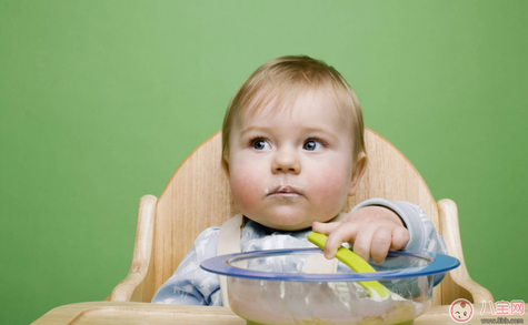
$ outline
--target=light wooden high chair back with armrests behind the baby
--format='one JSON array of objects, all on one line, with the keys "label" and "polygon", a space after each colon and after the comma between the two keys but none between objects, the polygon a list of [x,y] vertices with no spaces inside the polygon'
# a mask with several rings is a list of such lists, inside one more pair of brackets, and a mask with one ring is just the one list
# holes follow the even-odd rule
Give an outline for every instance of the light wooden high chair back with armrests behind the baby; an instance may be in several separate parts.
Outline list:
[{"label": "light wooden high chair back with armrests behind the baby", "polygon": [[[366,128],[365,141],[368,167],[345,211],[371,197],[418,204],[444,236],[449,254],[460,261],[460,266],[435,287],[432,305],[449,305],[456,298],[492,301],[491,293],[474,282],[466,270],[455,202],[448,199],[435,202],[418,171],[379,134]],[[107,299],[150,303],[198,234],[238,213],[220,156],[221,132],[218,132],[183,161],[159,199],[141,197],[132,265]]]}]

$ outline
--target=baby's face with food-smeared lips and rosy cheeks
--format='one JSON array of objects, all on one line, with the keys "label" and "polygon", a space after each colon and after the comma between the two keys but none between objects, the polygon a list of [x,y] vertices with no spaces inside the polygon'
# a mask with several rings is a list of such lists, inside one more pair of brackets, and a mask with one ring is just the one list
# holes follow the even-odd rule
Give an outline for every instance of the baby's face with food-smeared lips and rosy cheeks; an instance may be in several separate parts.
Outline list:
[{"label": "baby's face with food-smeared lips and rosy cheeks", "polygon": [[233,122],[226,160],[235,204],[277,230],[331,220],[351,185],[350,119],[322,91],[299,97],[291,108],[269,110],[259,108]]}]

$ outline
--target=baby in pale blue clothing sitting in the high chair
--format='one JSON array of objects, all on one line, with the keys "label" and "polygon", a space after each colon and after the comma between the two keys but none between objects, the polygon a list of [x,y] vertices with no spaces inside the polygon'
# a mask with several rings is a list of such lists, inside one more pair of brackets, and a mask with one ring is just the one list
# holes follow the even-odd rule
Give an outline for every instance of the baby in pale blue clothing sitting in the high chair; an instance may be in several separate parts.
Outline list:
[{"label": "baby in pale blue clothing sitting in the high chair", "polygon": [[[328,235],[327,258],[346,242],[375,263],[389,250],[447,253],[412,203],[371,199],[342,213],[367,166],[363,121],[351,88],[322,61],[282,57],[258,68],[229,103],[221,159],[241,212],[241,252],[309,247],[313,230]],[[199,267],[217,255],[219,233],[198,236],[153,303],[222,305],[218,276]]]}]

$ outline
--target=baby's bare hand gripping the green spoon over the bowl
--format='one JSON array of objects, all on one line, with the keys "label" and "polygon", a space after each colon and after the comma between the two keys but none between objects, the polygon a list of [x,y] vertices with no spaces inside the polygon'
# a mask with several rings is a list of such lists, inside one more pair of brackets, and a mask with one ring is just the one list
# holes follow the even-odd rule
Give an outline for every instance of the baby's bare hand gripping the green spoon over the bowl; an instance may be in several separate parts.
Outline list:
[{"label": "baby's bare hand gripping the green spoon over the bowl", "polygon": [[349,242],[365,261],[380,264],[389,250],[402,250],[409,242],[409,231],[393,211],[381,206],[365,206],[348,213],[340,222],[312,225],[315,232],[328,236],[325,257],[333,258],[339,246]]}]

